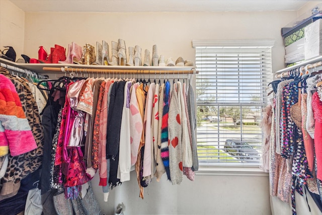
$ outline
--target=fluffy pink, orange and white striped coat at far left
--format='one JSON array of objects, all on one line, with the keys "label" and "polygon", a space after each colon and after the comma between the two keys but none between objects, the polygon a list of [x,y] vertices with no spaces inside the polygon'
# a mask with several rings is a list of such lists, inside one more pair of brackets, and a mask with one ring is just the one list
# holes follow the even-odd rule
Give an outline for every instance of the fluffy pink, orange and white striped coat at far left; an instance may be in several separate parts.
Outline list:
[{"label": "fluffy pink, orange and white striped coat at far left", "polygon": [[18,156],[37,148],[15,85],[0,74],[0,157]]}]

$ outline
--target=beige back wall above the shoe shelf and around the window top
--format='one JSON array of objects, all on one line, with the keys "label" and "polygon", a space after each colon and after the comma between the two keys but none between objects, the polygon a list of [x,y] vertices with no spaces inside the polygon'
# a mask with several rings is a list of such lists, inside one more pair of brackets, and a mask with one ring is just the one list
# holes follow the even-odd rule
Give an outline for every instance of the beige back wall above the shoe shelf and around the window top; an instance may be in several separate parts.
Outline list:
[{"label": "beige back wall above the shoe shelf and around the window top", "polygon": [[54,44],[95,45],[102,40],[111,44],[122,38],[126,46],[140,45],[151,52],[157,44],[158,53],[166,58],[194,60],[192,39],[275,39],[273,70],[277,70],[284,67],[280,29],[295,17],[296,12],[26,13],[24,50],[37,57],[40,45],[49,51]]}]

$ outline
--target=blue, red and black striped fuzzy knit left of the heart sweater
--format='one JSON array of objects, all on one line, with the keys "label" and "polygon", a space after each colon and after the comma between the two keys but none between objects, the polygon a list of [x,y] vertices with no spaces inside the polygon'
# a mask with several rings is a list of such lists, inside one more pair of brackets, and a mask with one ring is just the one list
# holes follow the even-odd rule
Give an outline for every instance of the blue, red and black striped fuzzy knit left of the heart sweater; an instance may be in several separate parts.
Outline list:
[{"label": "blue, red and black striped fuzzy knit left of the heart sweater", "polygon": [[169,167],[169,143],[168,143],[169,101],[170,101],[170,82],[167,82],[165,86],[164,108],[163,108],[162,126],[161,126],[161,158],[165,166],[168,179],[171,180],[170,167]]}]

